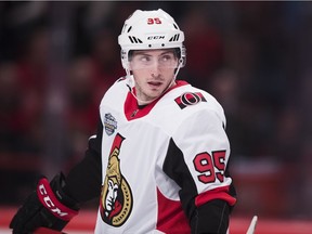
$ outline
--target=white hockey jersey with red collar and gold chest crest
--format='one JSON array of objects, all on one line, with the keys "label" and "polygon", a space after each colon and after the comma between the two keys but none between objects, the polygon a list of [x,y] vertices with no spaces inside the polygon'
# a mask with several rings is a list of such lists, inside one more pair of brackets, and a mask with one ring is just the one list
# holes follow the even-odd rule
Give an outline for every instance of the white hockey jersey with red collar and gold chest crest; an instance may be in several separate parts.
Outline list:
[{"label": "white hockey jersey with red collar and gold chest crest", "polygon": [[105,93],[103,186],[95,233],[190,234],[187,214],[216,198],[230,205],[230,144],[220,104],[184,81],[139,107],[127,79]]}]

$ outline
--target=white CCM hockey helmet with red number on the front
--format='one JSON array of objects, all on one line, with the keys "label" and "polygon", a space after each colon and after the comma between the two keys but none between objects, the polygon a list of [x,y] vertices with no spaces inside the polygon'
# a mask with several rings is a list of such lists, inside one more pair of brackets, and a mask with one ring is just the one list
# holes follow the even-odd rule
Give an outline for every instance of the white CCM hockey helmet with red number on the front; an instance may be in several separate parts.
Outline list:
[{"label": "white CCM hockey helmet with red number on the front", "polygon": [[178,48],[181,66],[185,64],[184,34],[174,20],[161,9],[136,10],[126,20],[118,43],[121,47],[121,63],[129,69],[129,51]]}]

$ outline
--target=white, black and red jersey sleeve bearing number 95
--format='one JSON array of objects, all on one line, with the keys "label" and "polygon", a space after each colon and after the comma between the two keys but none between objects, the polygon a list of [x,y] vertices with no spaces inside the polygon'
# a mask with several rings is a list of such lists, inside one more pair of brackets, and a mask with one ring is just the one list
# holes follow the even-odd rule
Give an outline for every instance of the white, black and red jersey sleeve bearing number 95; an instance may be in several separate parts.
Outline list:
[{"label": "white, black and red jersey sleeve bearing number 95", "polygon": [[196,229],[209,229],[208,220],[210,225],[221,222],[226,226],[226,221],[217,219],[224,216],[224,207],[229,213],[236,203],[227,172],[230,143],[224,125],[223,113],[214,109],[190,115],[170,140],[164,162],[164,171],[181,187],[182,207]]}]

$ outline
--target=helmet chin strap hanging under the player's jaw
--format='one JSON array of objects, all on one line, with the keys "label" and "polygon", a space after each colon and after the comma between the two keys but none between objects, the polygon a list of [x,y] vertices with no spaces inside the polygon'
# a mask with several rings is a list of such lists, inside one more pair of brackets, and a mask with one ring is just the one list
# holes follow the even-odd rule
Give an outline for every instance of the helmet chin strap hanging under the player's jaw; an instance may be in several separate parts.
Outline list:
[{"label": "helmet chin strap hanging under the player's jaw", "polygon": [[[167,86],[167,88],[161,92],[160,95],[162,95],[165,92],[167,92],[167,91],[173,86],[173,83],[176,82],[178,73],[179,73],[180,68],[182,67],[182,64],[183,64],[183,58],[180,58],[180,60],[179,60],[178,67],[177,67],[177,69],[176,69],[176,72],[174,72],[173,79],[172,79],[171,82]],[[127,74],[126,76],[127,76],[127,79],[128,79],[127,87],[129,88],[130,93],[133,95],[133,98],[138,101],[138,103],[139,103],[140,105],[147,105],[147,104],[152,103],[153,101],[157,100],[157,99],[160,96],[160,95],[159,95],[159,96],[157,96],[157,98],[155,98],[155,99],[153,99],[153,100],[148,100],[148,101],[140,100],[140,99],[135,95],[135,93],[134,93],[134,91],[133,91],[133,88],[132,88],[132,87],[134,87],[135,84],[132,84],[132,82],[135,83],[135,81],[134,81],[134,78],[131,76],[130,70],[129,70],[128,68],[126,69],[126,74]]]}]

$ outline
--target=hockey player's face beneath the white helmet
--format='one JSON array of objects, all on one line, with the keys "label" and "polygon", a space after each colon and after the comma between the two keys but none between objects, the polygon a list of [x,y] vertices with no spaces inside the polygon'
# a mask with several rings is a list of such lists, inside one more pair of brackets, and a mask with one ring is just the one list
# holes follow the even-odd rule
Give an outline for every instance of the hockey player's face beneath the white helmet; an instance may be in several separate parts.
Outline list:
[{"label": "hockey player's face beneath the white helmet", "polygon": [[130,69],[135,80],[136,98],[144,102],[159,98],[174,84],[177,67],[178,58],[172,49],[134,51]]}]

